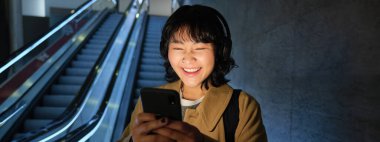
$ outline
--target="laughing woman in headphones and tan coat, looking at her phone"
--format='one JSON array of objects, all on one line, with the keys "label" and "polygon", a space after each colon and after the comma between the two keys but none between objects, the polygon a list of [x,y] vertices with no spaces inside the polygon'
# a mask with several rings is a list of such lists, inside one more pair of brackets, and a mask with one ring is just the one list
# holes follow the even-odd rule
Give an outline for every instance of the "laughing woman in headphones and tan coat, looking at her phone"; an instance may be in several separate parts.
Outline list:
[{"label": "laughing woman in headphones and tan coat, looking at her phone", "polygon": [[[227,22],[215,9],[194,5],[174,12],[160,42],[170,83],[160,88],[179,92],[183,121],[144,113],[139,100],[122,140],[267,141],[259,104],[227,84],[236,66],[231,45]],[[235,105],[238,112],[228,113]]]}]

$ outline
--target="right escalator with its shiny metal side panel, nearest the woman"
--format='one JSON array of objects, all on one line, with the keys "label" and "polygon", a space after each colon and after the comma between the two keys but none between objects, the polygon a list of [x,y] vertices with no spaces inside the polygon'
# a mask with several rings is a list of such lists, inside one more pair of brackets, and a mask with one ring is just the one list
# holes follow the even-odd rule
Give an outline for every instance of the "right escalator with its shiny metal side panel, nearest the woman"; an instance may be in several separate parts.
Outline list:
[{"label": "right escalator with its shiny metal side panel, nearest the woman", "polygon": [[[101,104],[97,103],[101,106],[91,119],[70,129],[69,133],[56,139],[57,141],[118,140],[122,130],[124,130],[123,124],[125,124],[125,120],[130,115],[126,113],[131,112],[126,110],[130,110],[128,106],[133,106],[133,101],[131,100],[136,101],[140,96],[139,90],[142,87],[155,87],[167,83],[165,80],[165,68],[163,67],[164,60],[159,50],[161,29],[167,18],[148,16],[147,20],[141,19],[137,20],[136,25],[144,23],[144,26],[135,25],[136,29],[131,33],[130,41],[125,51],[126,55],[120,60],[120,70],[117,73],[118,75],[115,76],[112,92],[107,93]],[[121,94],[123,92],[129,93],[123,96]]]}]

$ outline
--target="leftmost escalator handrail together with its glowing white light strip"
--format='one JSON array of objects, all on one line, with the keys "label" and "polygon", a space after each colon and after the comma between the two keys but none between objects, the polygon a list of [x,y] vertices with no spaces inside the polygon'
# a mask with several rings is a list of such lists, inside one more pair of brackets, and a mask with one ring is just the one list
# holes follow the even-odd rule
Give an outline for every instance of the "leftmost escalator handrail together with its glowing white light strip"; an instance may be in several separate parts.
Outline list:
[{"label": "leftmost escalator handrail together with its glowing white light strip", "polygon": [[15,64],[17,61],[19,61],[20,59],[25,57],[28,53],[30,53],[32,50],[34,50],[36,47],[38,47],[40,44],[42,44],[45,40],[47,40],[54,33],[61,30],[63,27],[65,27],[73,19],[75,19],[80,14],[82,14],[82,12],[84,12],[89,7],[91,7],[96,1],[97,0],[89,0],[86,3],[82,4],[77,9],[75,9],[75,12],[73,14],[66,16],[61,22],[58,22],[57,24],[52,26],[49,29],[48,33],[42,35],[41,37],[37,38],[34,41],[31,41],[31,42],[25,44],[23,47],[17,49],[10,56],[8,56],[5,60],[1,61],[0,62],[0,74],[3,73],[5,70],[7,70],[9,67],[11,67],[13,64]]}]

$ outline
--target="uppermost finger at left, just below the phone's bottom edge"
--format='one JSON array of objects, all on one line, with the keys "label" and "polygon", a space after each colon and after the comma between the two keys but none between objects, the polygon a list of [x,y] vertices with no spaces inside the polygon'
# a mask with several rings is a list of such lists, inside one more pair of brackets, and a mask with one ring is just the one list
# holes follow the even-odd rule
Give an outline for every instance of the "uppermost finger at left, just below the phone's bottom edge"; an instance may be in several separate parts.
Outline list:
[{"label": "uppermost finger at left, just below the phone's bottom edge", "polygon": [[146,123],[142,123],[140,125],[137,125],[134,129],[134,131],[138,135],[146,135],[152,130],[155,130],[157,128],[163,127],[168,124],[168,118],[164,117],[158,120],[148,121]]}]

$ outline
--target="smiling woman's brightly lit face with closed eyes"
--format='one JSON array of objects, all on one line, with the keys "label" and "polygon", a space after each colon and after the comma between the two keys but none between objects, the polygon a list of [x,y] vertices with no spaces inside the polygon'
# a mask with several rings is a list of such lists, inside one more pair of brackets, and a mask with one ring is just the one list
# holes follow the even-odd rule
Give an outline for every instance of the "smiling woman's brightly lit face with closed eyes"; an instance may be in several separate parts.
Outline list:
[{"label": "smiling woman's brightly lit face with closed eyes", "polygon": [[187,34],[177,37],[169,43],[170,65],[185,87],[201,87],[214,68],[212,44],[194,42]]}]

